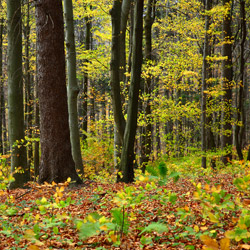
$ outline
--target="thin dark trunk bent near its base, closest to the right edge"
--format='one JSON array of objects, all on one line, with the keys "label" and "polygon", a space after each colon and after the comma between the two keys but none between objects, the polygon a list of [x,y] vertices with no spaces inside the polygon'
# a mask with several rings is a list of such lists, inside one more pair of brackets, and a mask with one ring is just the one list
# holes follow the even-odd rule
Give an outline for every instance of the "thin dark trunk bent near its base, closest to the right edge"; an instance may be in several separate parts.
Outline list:
[{"label": "thin dark trunk bent near its base, closest to the right edge", "polygon": [[240,15],[241,15],[241,43],[240,43],[240,90],[239,90],[239,103],[237,105],[237,121],[242,122],[242,126],[236,124],[235,128],[235,145],[240,160],[243,160],[242,154],[242,138],[240,133],[244,129],[244,74],[245,74],[245,41],[246,41],[246,13],[245,13],[245,0],[240,0]]}]

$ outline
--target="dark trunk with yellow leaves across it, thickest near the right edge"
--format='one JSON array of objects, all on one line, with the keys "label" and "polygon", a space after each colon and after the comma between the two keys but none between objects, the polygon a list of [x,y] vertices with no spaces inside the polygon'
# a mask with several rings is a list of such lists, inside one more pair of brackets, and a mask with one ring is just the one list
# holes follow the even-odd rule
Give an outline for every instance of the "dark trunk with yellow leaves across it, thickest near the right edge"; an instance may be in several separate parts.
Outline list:
[{"label": "dark trunk with yellow leaves across it, thickest near the right edge", "polygon": [[222,136],[221,148],[226,150],[222,156],[222,161],[227,164],[232,158],[232,80],[233,80],[233,66],[232,66],[232,32],[231,32],[231,8],[230,0],[223,0],[223,4],[228,8],[223,20],[223,46],[222,56],[226,59],[222,62],[222,89],[225,94],[222,97]]}]

